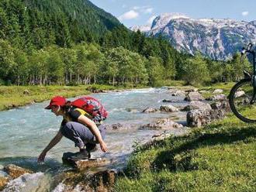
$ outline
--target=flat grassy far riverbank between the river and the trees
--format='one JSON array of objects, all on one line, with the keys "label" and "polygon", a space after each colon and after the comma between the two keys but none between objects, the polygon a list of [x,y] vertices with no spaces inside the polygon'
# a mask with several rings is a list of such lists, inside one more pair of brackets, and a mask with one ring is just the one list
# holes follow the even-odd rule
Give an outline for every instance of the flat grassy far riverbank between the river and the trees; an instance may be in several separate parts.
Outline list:
[{"label": "flat grassy far riverbank between the river and the trees", "polygon": [[72,98],[95,91],[123,90],[127,88],[132,87],[99,84],[87,86],[0,86],[0,111],[50,100],[55,95]]}]

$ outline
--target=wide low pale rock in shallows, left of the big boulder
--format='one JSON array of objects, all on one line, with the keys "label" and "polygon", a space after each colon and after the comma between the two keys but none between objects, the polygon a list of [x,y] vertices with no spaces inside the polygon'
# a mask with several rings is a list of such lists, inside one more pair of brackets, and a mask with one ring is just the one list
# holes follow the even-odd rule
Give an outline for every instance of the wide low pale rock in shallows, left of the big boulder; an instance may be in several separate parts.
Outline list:
[{"label": "wide low pale rock in shallows, left of the big boulder", "polygon": [[157,118],[156,122],[148,123],[147,125],[141,125],[140,129],[179,129],[183,125],[171,120],[171,118]]}]

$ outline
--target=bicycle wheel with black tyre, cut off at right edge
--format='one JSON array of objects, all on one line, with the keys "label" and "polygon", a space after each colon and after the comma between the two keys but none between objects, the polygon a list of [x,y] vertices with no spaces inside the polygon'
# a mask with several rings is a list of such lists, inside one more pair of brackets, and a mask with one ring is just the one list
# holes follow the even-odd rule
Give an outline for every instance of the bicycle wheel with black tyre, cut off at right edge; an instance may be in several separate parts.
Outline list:
[{"label": "bicycle wheel with black tyre, cut off at right edge", "polygon": [[251,104],[253,93],[254,87],[251,85],[251,79],[239,81],[230,91],[230,108],[234,115],[243,122],[256,122],[256,105]]}]

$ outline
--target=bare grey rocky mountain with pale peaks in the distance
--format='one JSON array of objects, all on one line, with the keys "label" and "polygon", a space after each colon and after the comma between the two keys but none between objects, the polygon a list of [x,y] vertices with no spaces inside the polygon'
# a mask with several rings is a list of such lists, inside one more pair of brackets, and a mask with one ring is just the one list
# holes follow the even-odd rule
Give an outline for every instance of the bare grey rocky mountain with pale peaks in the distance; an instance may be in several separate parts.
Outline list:
[{"label": "bare grey rocky mountain with pale peaks in the distance", "polygon": [[134,26],[147,36],[164,36],[179,51],[201,52],[214,60],[226,60],[247,43],[256,43],[256,21],[233,19],[191,19],[166,13],[157,16],[151,26]]}]

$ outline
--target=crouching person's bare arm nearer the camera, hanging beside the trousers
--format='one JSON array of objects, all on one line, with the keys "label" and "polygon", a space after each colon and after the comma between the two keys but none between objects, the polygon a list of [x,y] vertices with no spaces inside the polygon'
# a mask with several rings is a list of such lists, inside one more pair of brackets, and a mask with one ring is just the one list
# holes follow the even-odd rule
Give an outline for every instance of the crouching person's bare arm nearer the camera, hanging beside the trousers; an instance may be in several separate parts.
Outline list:
[{"label": "crouching person's bare arm nearer the camera, hanging beside the trousers", "polygon": [[103,152],[107,152],[107,147],[105,142],[102,139],[102,135],[99,132],[99,129],[95,122],[93,122],[90,118],[85,117],[85,115],[80,115],[78,117],[78,122],[81,122],[84,125],[88,125],[88,129],[92,132],[93,135],[95,135],[97,141],[99,142],[99,145]]}]

